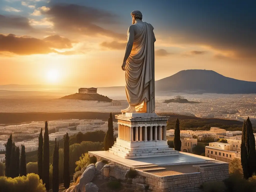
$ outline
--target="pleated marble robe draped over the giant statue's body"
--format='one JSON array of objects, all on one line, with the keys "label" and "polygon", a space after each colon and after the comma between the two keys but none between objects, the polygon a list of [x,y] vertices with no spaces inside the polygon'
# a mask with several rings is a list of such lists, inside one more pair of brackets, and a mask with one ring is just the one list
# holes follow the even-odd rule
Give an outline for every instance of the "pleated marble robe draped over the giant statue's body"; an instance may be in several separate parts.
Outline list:
[{"label": "pleated marble robe draped over the giant statue's body", "polygon": [[155,36],[153,29],[151,24],[143,22],[142,30],[134,37],[132,51],[126,60],[125,67],[127,101],[130,105],[146,102],[144,104],[147,104],[147,113],[155,112]]}]

